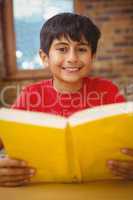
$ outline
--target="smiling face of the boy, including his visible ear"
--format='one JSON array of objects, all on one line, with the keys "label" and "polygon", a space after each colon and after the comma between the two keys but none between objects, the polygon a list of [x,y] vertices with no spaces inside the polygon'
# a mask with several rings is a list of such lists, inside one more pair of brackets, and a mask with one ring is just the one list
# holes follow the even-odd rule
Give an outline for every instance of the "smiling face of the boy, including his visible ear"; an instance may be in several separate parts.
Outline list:
[{"label": "smiling face of the boy, including his visible ear", "polygon": [[55,80],[67,84],[82,81],[92,65],[91,47],[85,39],[80,42],[61,37],[54,39],[49,55],[40,53],[44,64],[50,67]]}]

